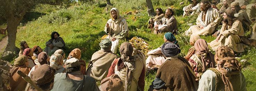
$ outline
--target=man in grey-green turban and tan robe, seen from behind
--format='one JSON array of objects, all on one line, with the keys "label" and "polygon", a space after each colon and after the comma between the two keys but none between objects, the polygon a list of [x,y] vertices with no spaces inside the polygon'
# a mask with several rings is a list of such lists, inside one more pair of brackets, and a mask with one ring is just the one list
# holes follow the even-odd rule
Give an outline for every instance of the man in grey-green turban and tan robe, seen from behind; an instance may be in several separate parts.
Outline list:
[{"label": "man in grey-green turban and tan robe, seen from behind", "polygon": [[118,56],[111,52],[111,40],[106,38],[99,44],[101,50],[92,55],[89,66],[86,70],[86,75],[93,77],[97,81],[101,81],[108,75],[109,68]]}]

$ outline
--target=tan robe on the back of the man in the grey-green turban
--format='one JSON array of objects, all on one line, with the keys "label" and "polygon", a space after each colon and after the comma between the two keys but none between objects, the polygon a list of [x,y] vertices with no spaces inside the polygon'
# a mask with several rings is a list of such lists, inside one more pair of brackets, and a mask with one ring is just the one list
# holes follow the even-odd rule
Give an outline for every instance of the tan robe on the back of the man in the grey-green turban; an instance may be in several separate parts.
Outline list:
[{"label": "tan robe on the back of the man in the grey-green turban", "polygon": [[[103,50],[99,50],[92,55],[91,60],[94,60],[105,53],[106,52],[104,52]],[[106,77],[106,75],[108,75],[109,68],[113,60],[116,58],[118,58],[118,56],[111,52],[106,54],[102,58],[93,61],[93,65],[90,68],[87,68],[88,70],[86,72],[86,75],[93,77],[97,81],[101,81]]]}]

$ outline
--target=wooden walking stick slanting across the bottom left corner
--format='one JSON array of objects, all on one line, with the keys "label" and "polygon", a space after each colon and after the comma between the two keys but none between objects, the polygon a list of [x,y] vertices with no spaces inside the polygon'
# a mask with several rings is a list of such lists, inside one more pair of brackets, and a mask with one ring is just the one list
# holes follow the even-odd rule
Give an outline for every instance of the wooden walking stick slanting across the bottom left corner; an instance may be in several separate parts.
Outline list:
[{"label": "wooden walking stick slanting across the bottom left corner", "polygon": [[37,91],[43,91],[41,88],[39,88],[39,87],[30,79],[30,77],[28,77],[28,76],[27,76],[26,74],[24,74],[22,71],[18,70],[17,73],[18,73],[20,76],[22,76],[23,79],[24,79],[27,83],[31,84]]}]

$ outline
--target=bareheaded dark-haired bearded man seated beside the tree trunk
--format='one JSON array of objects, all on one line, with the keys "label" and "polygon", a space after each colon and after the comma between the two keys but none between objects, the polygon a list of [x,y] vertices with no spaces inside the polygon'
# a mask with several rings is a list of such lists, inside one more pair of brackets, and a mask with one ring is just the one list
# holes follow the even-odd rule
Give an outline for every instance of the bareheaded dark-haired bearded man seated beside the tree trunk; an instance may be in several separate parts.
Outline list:
[{"label": "bareheaded dark-haired bearded man seated beside the tree trunk", "polygon": [[154,28],[154,22],[161,21],[161,19],[164,17],[164,13],[161,8],[156,8],[155,11],[156,11],[156,16],[148,20],[148,24],[149,24],[148,28],[150,28],[151,30],[153,30]]}]

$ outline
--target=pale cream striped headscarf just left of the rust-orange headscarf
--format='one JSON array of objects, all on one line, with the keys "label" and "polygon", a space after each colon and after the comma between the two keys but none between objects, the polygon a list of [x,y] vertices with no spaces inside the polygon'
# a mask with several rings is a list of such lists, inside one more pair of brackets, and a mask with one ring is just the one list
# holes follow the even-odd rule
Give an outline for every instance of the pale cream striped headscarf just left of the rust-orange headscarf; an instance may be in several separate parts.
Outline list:
[{"label": "pale cream striped headscarf just left of the rust-orange headscarf", "polygon": [[57,69],[59,65],[63,65],[63,58],[60,54],[53,54],[50,59],[50,66]]}]

